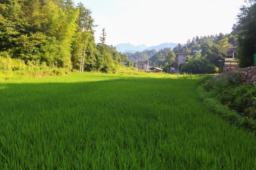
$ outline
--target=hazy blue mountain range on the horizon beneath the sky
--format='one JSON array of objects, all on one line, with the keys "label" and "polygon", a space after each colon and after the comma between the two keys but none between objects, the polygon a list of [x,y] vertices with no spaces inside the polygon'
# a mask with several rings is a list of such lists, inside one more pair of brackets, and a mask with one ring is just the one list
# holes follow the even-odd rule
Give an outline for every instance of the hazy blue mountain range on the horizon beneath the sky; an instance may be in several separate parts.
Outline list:
[{"label": "hazy blue mountain range on the horizon beneath the sky", "polygon": [[151,50],[151,49],[155,49],[156,51],[159,51],[160,49],[162,48],[165,48],[165,47],[170,47],[170,48],[174,48],[178,45],[178,43],[163,43],[163,44],[160,44],[158,46],[151,46],[151,47],[147,47],[145,44],[141,44],[139,46],[134,46],[130,43],[122,43],[122,44],[117,44],[115,47],[116,47],[116,50],[118,52],[122,52],[122,53],[126,53],[126,52],[130,52],[130,53],[135,53],[137,51],[144,51],[144,50]]}]

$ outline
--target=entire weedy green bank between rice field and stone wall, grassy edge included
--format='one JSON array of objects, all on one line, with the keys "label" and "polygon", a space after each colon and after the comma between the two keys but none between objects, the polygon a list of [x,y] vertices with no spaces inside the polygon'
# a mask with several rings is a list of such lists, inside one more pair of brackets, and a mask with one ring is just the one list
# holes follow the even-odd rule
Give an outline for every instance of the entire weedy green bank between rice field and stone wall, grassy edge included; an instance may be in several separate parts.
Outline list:
[{"label": "entire weedy green bank between rice field and stone wall, grassy edge included", "polygon": [[216,113],[239,127],[256,130],[256,87],[240,84],[231,75],[203,80],[204,104]]}]

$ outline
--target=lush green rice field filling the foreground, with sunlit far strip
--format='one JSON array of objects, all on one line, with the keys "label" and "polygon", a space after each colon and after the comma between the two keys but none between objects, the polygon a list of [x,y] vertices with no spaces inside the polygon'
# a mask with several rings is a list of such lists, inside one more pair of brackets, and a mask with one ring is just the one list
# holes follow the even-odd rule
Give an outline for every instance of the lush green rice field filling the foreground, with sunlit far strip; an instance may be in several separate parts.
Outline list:
[{"label": "lush green rice field filling the foreground, with sunlit far strip", "polygon": [[0,79],[0,169],[255,168],[255,135],[205,110],[192,78]]}]

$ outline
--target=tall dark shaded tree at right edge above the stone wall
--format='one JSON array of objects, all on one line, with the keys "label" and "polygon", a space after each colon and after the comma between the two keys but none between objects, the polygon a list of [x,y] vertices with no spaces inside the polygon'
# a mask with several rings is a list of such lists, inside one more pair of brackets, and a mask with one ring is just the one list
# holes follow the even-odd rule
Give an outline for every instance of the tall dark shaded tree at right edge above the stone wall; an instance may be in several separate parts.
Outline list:
[{"label": "tall dark shaded tree at right edge above the stone wall", "polygon": [[256,1],[250,0],[247,6],[240,8],[233,32],[238,34],[238,55],[241,68],[254,66],[253,54],[256,54]]}]

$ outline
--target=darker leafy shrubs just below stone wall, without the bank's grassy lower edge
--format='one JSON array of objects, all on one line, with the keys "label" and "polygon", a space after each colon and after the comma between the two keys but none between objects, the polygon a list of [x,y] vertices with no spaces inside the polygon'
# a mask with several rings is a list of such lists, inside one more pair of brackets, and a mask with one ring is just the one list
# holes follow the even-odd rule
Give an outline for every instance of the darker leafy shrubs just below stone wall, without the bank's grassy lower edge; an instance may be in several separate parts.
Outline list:
[{"label": "darker leafy shrubs just below stone wall, without the bank's grassy lower edge", "polygon": [[229,75],[212,79],[204,83],[208,97],[216,98],[242,115],[256,119],[256,87],[240,84],[240,79],[233,80]]}]

